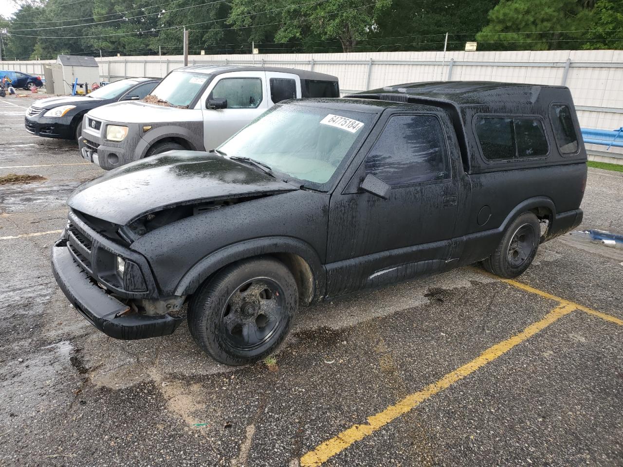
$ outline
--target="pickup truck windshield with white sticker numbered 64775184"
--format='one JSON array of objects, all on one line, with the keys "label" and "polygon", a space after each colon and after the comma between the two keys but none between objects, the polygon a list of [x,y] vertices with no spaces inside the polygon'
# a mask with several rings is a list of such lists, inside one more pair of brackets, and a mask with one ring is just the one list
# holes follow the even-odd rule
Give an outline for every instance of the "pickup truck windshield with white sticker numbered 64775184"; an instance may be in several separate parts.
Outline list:
[{"label": "pickup truck windshield with white sticker numbered 64775184", "polygon": [[336,170],[373,115],[302,105],[274,106],[219,146],[227,157],[267,164],[315,189],[328,188]]}]

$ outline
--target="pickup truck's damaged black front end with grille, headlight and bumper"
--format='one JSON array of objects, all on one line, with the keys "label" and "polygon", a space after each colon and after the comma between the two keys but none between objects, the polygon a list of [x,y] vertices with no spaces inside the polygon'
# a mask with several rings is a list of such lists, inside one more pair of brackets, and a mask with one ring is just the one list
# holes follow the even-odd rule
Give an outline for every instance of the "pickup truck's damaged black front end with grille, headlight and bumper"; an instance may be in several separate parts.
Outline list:
[{"label": "pickup truck's damaged black front end with grille, headlight and bumper", "polygon": [[[65,296],[90,323],[116,339],[172,334],[184,296],[161,298],[145,258],[69,212],[52,247],[52,271]],[[108,234],[108,235],[107,235]]]}]

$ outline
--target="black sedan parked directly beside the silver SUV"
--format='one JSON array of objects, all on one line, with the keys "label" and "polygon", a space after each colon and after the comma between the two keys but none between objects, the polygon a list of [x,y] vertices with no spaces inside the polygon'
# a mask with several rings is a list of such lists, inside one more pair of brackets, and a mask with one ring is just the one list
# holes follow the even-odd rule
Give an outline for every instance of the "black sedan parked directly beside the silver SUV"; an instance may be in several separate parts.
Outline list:
[{"label": "black sedan parked directly beside the silver SUV", "polygon": [[120,100],[141,100],[158,84],[156,78],[127,78],[86,96],[50,97],[26,111],[26,130],[45,138],[78,139],[82,118],[89,110]]}]

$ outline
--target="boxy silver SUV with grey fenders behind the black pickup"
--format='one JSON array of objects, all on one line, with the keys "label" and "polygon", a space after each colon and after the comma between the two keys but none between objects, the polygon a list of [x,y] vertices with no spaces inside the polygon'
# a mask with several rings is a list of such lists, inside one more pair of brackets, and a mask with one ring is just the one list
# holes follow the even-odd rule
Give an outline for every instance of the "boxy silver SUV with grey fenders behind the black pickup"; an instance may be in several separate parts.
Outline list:
[{"label": "boxy silver SUV with grey fenders behind the black pickup", "polygon": [[88,112],[80,153],[110,170],[173,149],[205,151],[273,104],[300,97],[340,97],[338,78],[294,68],[178,68],[142,101]]}]

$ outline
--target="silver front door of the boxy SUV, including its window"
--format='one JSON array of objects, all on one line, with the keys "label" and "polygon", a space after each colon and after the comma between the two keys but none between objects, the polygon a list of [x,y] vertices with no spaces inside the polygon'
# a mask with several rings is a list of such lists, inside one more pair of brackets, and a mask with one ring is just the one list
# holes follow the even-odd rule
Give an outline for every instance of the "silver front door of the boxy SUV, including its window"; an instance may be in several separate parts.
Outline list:
[{"label": "silver front door of the boxy SUV, including its window", "polygon": [[[207,98],[226,98],[227,108],[206,108]],[[206,150],[216,148],[261,115],[272,106],[269,100],[266,73],[263,71],[217,75],[199,103],[203,112],[203,140]]]}]

